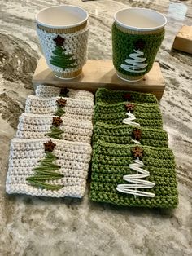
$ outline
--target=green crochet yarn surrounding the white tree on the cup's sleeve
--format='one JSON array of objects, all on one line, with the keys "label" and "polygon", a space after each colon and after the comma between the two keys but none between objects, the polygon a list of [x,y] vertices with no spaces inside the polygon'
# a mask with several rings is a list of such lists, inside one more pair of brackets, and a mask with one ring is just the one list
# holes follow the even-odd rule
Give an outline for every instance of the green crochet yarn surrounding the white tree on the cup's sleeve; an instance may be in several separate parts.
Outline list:
[{"label": "green crochet yarn surrounding the white tree on the cup's sleeve", "polygon": [[[117,71],[124,75],[141,76],[148,73],[155,60],[155,56],[159,51],[159,46],[164,39],[164,30],[155,34],[129,34],[117,29],[116,24],[112,25],[112,51],[113,51],[113,64]],[[142,58],[146,58],[145,64],[146,71],[142,73],[133,73],[124,70],[120,67],[121,64],[126,64],[124,60],[130,59],[129,55],[137,50],[137,42],[142,41],[143,46],[141,51],[144,53]]]}]

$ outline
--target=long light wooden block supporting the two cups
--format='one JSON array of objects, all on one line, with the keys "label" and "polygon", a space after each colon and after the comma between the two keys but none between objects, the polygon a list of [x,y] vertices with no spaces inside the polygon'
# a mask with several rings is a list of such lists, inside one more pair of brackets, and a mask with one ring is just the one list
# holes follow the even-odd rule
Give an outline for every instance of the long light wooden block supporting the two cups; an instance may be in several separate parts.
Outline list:
[{"label": "long light wooden block supporting the two cups", "polygon": [[63,80],[55,77],[44,58],[39,60],[33,75],[33,86],[36,87],[39,84],[68,86],[68,88],[92,92],[95,92],[99,87],[114,90],[137,90],[153,93],[158,99],[162,97],[165,87],[164,77],[159,64],[156,62],[151,71],[139,82],[125,82],[117,77],[111,60],[88,60],[79,77]]}]

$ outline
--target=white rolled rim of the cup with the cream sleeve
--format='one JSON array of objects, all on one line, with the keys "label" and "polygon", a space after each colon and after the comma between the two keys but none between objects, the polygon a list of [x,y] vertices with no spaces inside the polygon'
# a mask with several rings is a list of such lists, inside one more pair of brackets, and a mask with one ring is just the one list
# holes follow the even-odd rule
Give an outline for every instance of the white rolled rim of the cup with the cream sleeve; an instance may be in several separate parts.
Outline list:
[{"label": "white rolled rim of the cup with the cream sleeve", "polygon": [[[84,20],[81,20],[80,22],[77,22],[77,23],[74,23],[74,24],[68,24],[68,25],[52,25],[52,24],[49,24],[49,23],[44,23],[44,22],[41,22],[40,20],[38,20],[38,15],[41,14],[41,12],[43,11],[46,11],[47,9],[54,9],[54,8],[58,8],[58,7],[72,7],[74,9],[79,9],[81,11],[84,11],[85,12],[85,19]],[[35,15],[35,20],[37,22],[37,24],[40,24],[41,26],[44,26],[44,27],[47,27],[47,28],[51,28],[51,29],[69,29],[69,28],[74,28],[74,27],[77,27],[81,24],[84,24],[89,18],[89,13],[87,11],[85,11],[85,9],[81,8],[81,7],[77,7],[77,6],[73,6],[73,5],[68,5],[68,4],[63,4],[63,5],[60,5],[60,6],[52,6],[52,7],[46,7],[46,8],[43,8],[41,9],[40,11],[37,12],[37,14]]]}]

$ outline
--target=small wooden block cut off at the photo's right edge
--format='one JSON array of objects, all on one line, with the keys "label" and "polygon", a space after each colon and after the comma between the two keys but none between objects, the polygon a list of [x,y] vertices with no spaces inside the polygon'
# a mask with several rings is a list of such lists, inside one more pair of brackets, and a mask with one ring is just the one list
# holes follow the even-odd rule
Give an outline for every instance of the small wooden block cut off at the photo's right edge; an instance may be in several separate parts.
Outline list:
[{"label": "small wooden block cut off at the photo's right edge", "polygon": [[192,26],[183,26],[179,30],[172,48],[192,54]]}]

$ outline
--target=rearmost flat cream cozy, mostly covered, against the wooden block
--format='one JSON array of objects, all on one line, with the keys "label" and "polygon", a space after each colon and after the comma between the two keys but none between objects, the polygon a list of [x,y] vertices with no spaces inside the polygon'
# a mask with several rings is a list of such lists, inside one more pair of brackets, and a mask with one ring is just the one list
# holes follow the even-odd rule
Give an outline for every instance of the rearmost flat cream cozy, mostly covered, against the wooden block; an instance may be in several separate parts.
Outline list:
[{"label": "rearmost flat cream cozy, mostly covered, against the wooden block", "polygon": [[94,102],[94,95],[87,90],[61,89],[54,86],[39,85],[35,90],[35,95],[42,98],[63,96],[72,99],[91,100]]}]

